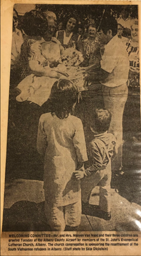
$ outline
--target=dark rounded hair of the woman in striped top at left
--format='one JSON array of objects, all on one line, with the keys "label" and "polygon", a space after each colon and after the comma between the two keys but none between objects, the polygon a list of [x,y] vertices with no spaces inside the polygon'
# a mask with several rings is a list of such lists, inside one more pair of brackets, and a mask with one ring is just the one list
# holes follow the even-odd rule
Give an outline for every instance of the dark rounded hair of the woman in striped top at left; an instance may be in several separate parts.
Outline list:
[{"label": "dark rounded hair of the woman in striped top at left", "polygon": [[28,36],[43,36],[47,31],[47,19],[45,15],[36,10],[26,12],[22,22],[22,29]]}]

